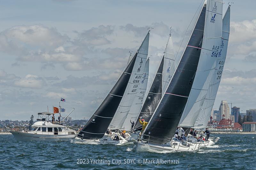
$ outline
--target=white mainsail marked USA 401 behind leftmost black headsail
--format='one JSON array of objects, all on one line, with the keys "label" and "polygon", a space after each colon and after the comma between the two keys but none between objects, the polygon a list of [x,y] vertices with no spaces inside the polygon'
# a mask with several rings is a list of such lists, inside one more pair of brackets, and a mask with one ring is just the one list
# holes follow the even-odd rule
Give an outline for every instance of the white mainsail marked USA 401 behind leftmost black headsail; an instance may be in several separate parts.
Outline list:
[{"label": "white mainsail marked USA 401 behind leftmost black headsail", "polygon": [[[121,129],[127,114],[130,111],[133,100],[135,99],[137,90],[140,85],[141,78],[143,76],[143,71],[145,68],[147,56],[148,56],[148,43],[149,43],[149,32],[143,40],[140,48],[138,49],[137,58],[132,70],[129,83],[124,92],[124,96],[116,110],[115,116],[109,125],[109,129]],[[111,107],[111,106],[109,106]]]}]

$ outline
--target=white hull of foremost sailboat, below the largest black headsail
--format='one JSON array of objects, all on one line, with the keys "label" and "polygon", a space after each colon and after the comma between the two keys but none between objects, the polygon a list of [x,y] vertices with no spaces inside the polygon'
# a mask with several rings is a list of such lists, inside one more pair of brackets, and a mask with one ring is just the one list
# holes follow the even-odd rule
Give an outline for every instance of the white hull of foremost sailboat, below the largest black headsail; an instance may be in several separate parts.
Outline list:
[{"label": "white hull of foremost sailboat, below the largest black headsail", "polygon": [[[188,143],[189,144],[189,143]],[[197,152],[199,145],[184,146],[180,142],[171,141],[171,144],[146,144],[143,142],[137,142],[137,149],[143,150],[149,148],[156,151],[174,151],[174,152]]]}]

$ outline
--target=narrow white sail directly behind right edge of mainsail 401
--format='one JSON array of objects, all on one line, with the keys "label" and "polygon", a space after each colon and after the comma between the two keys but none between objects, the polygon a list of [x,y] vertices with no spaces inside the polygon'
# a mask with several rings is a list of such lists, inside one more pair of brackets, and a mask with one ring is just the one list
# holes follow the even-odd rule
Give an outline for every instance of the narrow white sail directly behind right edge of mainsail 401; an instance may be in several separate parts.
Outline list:
[{"label": "narrow white sail directly behind right edge of mainsail 401", "polygon": [[149,71],[149,58],[147,59],[147,62],[145,65],[144,73],[140,81],[138,92],[135,96],[135,99],[133,100],[132,107],[124,121],[123,129],[125,130],[131,130],[131,122],[135,122],[140,113],[140,109],[142,107],[143,99],[144,99],[145,92],[147,89],[147,84],[148,84],[148,71]]}]

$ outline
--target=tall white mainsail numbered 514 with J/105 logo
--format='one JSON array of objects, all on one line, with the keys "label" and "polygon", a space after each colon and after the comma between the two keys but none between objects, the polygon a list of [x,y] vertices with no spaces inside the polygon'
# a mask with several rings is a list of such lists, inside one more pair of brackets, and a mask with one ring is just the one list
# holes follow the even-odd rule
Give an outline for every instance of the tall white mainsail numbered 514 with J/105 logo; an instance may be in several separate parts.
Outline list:
[{"label": "tall white mainsail numbered 514 with J/105 logo", "polygon": [[[206,97],[220,52],[222,36],[222,0],[207,0],[204,38],[194,83],[179,122],[181,127],[193,127]],[[198,47],[192,47],[198,48]]]}]

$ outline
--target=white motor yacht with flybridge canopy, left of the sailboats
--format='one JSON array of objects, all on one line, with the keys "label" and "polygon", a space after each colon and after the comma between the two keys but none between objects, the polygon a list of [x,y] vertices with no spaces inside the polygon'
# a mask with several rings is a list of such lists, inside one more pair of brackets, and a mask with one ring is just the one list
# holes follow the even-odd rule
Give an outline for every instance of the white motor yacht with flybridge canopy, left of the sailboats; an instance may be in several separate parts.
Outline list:
[{"label": "white motor yacht with flybridge canopy, left of the sailboats", "polygon": [[76,131],[69,129],[67,126],[63,126],[62,122],[58,122],[58,121],[50,122],[50,120],[52,119],[52,116],[54,115],[53,113],[41,112],[41,113],[38,113],[37,115],[38,115],[38,119],[36,119],[37,122],[35,122],[31,126],[31,130],[10,131],[16,140],[70,141],[71,138],[75,137]]}]

